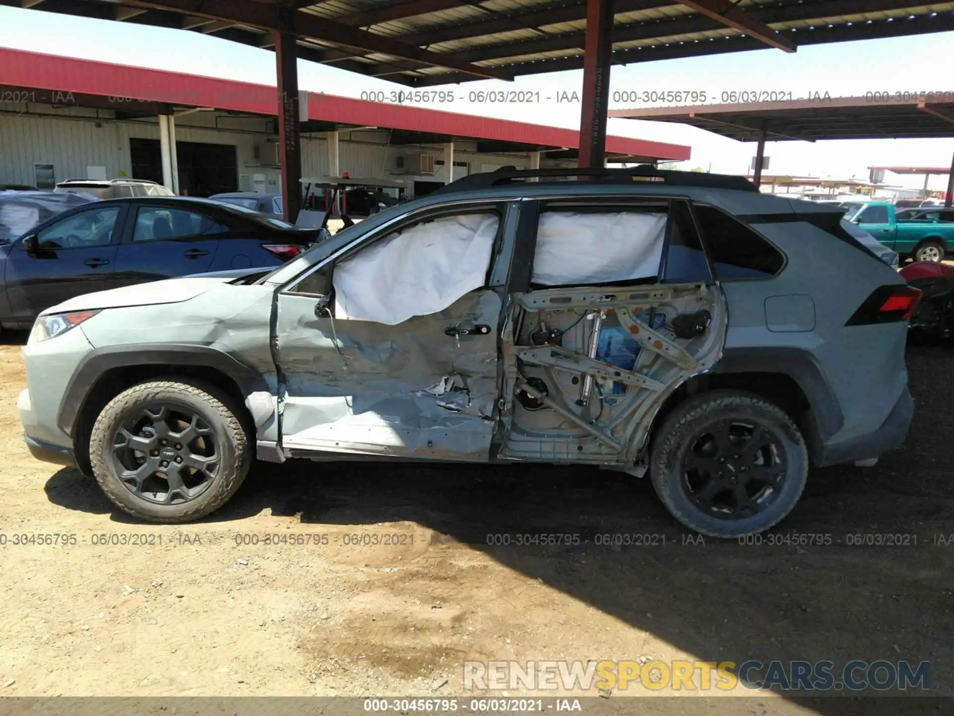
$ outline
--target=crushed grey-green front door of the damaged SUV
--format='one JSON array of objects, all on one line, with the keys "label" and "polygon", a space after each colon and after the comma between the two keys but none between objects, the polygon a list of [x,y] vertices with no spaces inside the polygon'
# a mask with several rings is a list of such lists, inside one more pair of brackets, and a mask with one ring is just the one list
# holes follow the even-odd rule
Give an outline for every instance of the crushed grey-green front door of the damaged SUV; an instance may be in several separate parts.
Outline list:
[{"label": "crushed grey-green front door of the damaged SUV", "polygon": [[[399,230],[391,236],[406,234]],[[435,241],[443,239],[438,231]],[[375,241],[368,245],[377,245]],[[500,261],[499,252],[493,255]],[[489,266],[488,247],[486,256]],[[485,281],[483,268],[466,267],[479,276],[476,283]],[[387,272],[385,265],[380,275],[384,283]],[[280,427],[286,453],[486,461],[497,427],[505,286],[472,289],[456,301],[447,299],[453,303],[443,309],[434,306],[427,315],[388,325],[342,318],[346,302],[340,302],[337,279],[334,284],[334,318],[325,307],[329,302],[313,294],[283,292],[278,298]],[[374,284],[373,277],[363,280],[359,294]]]}]

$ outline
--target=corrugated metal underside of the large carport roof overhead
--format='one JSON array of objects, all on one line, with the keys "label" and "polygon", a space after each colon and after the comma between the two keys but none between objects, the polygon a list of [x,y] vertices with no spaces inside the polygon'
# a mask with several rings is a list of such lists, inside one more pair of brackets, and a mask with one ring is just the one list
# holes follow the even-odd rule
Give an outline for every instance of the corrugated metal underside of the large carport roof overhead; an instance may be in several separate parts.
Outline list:
[{"label": "corrugated metal underside of the large carport roof overhead", "polygon": [[[51,7],[110,19],[123,2],[74,0]],[[20,3],[0,0],[0,4]],[[43,10],[47,5],[36,7]],[[299,32],[309,32],[307,18],[310,32],[318,36],[303,37],[300,56],[412,86],[477,79],[472,70],[478,67],[500,68],[512,76],[576,69],[582,66],[586,5],[586,0],[323,0],[301,8]],[[205,6],[156,0],[156,6],[125,21],[182,27],[182,14],[170,8],[195,13],[207,11],[205,6],[217,7],[219,12],[231,7],[234,10],[227,12],[234,12],[229,17],[235,19],[243,19],[242,13],[260,18],[272,12],[256,0]],[[614,0],[613,8],[613,63],[766,47],[673,0]],[[797,45],[954,31],[954,2],[741,0],[738,8]],[[246,21],[231,27],[223,24],[213,32],[205,28],[205,32],[260,46],[262,32],[269,27],[274,26]],[[203,26],[194,30],[203,32]],[[384,38],[391,46],[384,46]],[[401,45],[394,46],[395,42]],[[422,58],[422,49],[435,54]],[[442,61],[454,69],[441,66]]]}]

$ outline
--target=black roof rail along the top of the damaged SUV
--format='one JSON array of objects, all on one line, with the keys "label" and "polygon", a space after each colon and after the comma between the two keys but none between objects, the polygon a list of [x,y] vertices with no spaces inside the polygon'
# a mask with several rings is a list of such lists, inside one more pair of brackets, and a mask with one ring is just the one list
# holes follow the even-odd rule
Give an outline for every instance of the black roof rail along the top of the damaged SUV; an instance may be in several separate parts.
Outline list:
[{"label": "black roof rail along the top of the damaged SUV", "polygon": [[492,186],[512,184],[527,179],[591,177],[591,182],[601,184],[632,184],[635,181],[663,181],[683,186],[708,186],[715,189],[740,189],[757,192],[758,187],[745,177],[729,174],[704,174],[701,172],[674,172],[668,169],[656,169],[651,164],[640,164],[627,169],[517,169],[504,166],[493,172],[471,174],[455,179],[436,189],[431,194],[449,194],[450,192],[476,191]]}]

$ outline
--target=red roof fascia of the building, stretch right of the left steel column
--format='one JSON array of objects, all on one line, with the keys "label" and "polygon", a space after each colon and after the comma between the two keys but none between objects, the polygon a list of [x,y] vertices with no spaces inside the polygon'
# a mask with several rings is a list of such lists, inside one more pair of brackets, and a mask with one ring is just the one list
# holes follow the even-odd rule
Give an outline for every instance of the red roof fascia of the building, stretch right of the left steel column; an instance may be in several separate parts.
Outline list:
[{"label": "red roof fascia of the building, stretch right of the left steel column", "polygon": [[[579,135],[571,129],[487,116],[461,115],[410,105],[366,102],[336,95],[309,93],[308,117],[359,127],[376,126],[547,147],[579,147]],[[690,158],[692,153],[691,147],[631,137],[606,137],[606,143],[607,151],[612,154],[683,160]]]}]

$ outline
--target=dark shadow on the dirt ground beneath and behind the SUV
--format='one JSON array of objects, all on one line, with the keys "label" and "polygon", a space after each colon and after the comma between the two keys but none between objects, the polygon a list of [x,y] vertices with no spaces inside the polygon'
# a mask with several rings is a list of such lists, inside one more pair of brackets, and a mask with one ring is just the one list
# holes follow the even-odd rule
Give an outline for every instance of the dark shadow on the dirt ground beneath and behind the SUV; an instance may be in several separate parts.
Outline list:
[{"label": "dark shadow on the dirt ground beneath and behind the SUV", "polygon": [[[827,545],[770,545],[768,536],[757,545],[695,543],[648,481],[546,466],[260,464],[209,521],[263,511],[332,525],[409,520],[704,660],[929,661],[931,694],[951,695],[954,352],[913,348],[908,366],[918,411],[904,449],[874,468],[816,471],[773,533],[815,535]],[[74,470],[54,474],[47,492],[70,509],[127,521]],[[583,543],[488,544],[495,535],[534,533],[579,535]],[[653,544],[614,551],[594,543],[603,534],[653,536]],[[900,537],[901,546],[849,544],[863,535],[910,537]],[[935,544],[939,536],[951,546]],[[812,707],[871,712],[858,705],[828,699]]]}]

